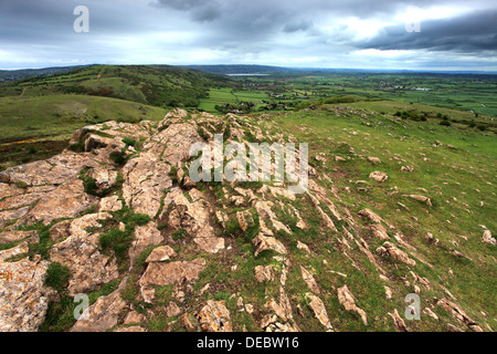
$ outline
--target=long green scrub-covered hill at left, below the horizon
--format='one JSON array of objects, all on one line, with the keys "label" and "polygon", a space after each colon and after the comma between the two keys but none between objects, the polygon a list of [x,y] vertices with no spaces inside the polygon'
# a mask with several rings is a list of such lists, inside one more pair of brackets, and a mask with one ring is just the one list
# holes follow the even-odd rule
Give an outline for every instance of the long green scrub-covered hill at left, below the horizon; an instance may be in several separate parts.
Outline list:
[{"label": "long green scrub-covered hill at left, below the horizon", "polygon": [[158,107],[195,107],[210,87],[222,85],[224,80],[222,76],[168,65],[93,65],[0,84],[0,97],[78,94]]}]

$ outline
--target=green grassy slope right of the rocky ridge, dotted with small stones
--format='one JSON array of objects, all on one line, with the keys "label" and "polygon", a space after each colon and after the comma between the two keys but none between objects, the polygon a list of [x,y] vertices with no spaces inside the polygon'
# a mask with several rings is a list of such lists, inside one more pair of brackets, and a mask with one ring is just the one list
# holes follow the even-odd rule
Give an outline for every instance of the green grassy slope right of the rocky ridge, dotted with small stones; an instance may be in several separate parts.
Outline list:
[{"label": "green grassy slope right of the rocky ridge, dotted with small stones", "polygon": [[[485,225],[489,230],[495,230],[497,226],[495,219],[490,217],[497,212],[494,184],[494,176],[497,173],[495,165],[497,149],[494,136],[426,123],[392,124],[390,119],[379,114],[368,118],[359,116],[345,118],[327,112],[279,114],[275,122],[293,132],[299,142],[308,142],[310,157],[318,153],[326,154],[328,163],[319,168],[331,177],[340,190],[350,188],[350,194],[341,192],[341,197],[343,205],[351,207],[352,214],[371,208],[394,225],[434,266],[431,269],[419,262],[416,273],[427,277],[433,282],[441,282],[457,298],[458,304],[467,309],[469,316],[495,327],[497,251],[495,247],[480,241],[483,229],[479,227]],[[432,144],[435,139],[453,144],[457,148],[434,147]],[[336,155],[347,158],[350,146],[360,155],[379,157],[382,164],[373,166],[357,157],[342,163],[332,159]],[[405,163],[400,164],[393,158],[402,158]],[[317,162],[314,164],[319,165]],[[413,166],[415,171],[401,171],[400,167],[405,165]],[[369,179],[369,174],[374,170],[384,171],[390,178],[384,184]],[[359,191],[355,185],[357,180],[368,181],[368,191]],[[419,188],[425,188],[427,191],[421,191]],[[396,190],[396,194],[391,194]],[[426,195],[432,198],[433,207],[427,208],[419,201],[406,199],[402,197],[404,194]],[[400,207],[399,202],[409,210]],[[436,250],[429,246],[423,238],[425,231],[433,232],[444,246]],[[466,237],[467,241],[462,236]],[[459,247],[454,247],[453,241]],[[371,250],[382,243],[374,238],[368,242]],[[447,251],[450,248],[461,250],[473,261],[455,258]],[[352,273],[346,282],[352,292],[361,298],[359,306],[362,305],[369,314],[372,312],[373,316],[384,314],[384,310],[379,306],[388,309],[391,305],[383,303],[382,296],[378,294],[369,295],[371,292],[382,292],[382,283],[378,278],[364,279],[356,270],[347,269],[338,256],[331,258],[331,263],[336,264],[335,270]],[[322,268],[318,264],[318,260],[316,267],[318,270]],[[455,277],[448,275],[450,269],[454,271]],[[399,275],[404,275],[404,267],[400,266],[398,272]],[[318,279],[324,283],[330,281],[329,275],[324,273],[319,274]],[[398,285],[393,290],[400,293],[394,299],[398,309],[404,309],[402,294],[406,295],[412,289]],[[447,295],[435,285],[432,291],[422,293],[422,301],[431,300],[433,296]],[[329,301],[331,308],[339,309],[334,296],[330,296]],[[377,301],[379,303],[376,303]],[[480,311],[485,311],[489,316],[485,317]],[[444,311],[436,313],[448,319]],[[377,325],[377,329],[381,329],[380,323]],[[349,325],[345,323],[345,326],[343,324],[340,326],[360,330],[357,323]],[[433,329],[436,327],[436,323],[424,316],[424,321],[415,324],[415,327]]]}]

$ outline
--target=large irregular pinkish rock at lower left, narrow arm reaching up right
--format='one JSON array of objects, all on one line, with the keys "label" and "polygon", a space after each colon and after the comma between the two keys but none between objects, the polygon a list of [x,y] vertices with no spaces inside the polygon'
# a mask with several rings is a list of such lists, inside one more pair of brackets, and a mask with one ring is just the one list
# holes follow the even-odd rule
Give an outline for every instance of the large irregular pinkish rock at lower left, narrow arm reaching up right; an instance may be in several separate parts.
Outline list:
[{"label": "large irregular pinkish rock at lower left, narrow arm reaching up right", "polygon": [[68,283],[71,295],[95,290],[119,277],[114,258],[99,252],[99,235],[88,235],[88,227],[98,226],[109,215],[88,215],[71,222],[70,237],[53,246],[50,260],[70,268],[72,277]]}]

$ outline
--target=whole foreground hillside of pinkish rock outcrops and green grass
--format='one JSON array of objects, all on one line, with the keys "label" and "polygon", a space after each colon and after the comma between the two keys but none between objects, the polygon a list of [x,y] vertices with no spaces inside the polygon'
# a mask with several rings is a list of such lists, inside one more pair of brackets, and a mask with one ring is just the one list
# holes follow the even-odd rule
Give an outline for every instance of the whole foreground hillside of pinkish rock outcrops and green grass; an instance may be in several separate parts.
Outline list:
[{"label": "whole foreground hillside of pinkish rock outcrops and green grass", "polygon": [[[307,192],[194,183],[213,134],[308,143]],[[0,173],[0,330],[491,332],[495,147],[347,104],[80,129]]]}]

